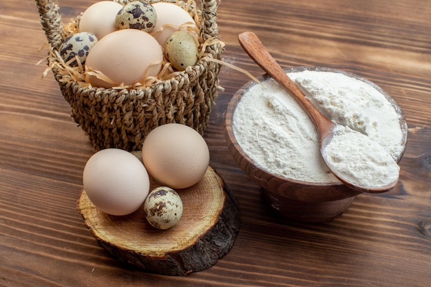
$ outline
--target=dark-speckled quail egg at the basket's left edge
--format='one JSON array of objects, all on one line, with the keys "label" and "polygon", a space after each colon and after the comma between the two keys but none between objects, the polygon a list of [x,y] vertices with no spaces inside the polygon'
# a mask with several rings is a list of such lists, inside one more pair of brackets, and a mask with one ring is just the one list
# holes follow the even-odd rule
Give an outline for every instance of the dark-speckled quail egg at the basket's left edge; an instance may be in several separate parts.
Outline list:
[{"label": "dark-speckled quail egg at the basket's left edge", "polygon": [[[97,43],[97,37],[93,33],[80,32],[68,36],[60,45],[60,56],[65,62],[78,56],[82,64],[85,63],[87,55]],[[72,67],[77,66],[76,61],[70,63]]]}]

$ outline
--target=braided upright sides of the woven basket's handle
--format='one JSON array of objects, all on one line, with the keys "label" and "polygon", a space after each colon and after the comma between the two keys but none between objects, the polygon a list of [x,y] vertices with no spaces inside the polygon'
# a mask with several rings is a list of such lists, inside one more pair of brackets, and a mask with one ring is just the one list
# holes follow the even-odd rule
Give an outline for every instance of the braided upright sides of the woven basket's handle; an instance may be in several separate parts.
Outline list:
[{"label": "braided upright sides of the woven basket's handle", "polygon": [[[48,43],[52,47],[59,47],[63,41],[63,23],[59,14],[59,5],[54,0],[35,0],[37,10],[41,19],[42,29]],[[200,0],[202,4],[202,18],[204,20],[204,34],[208,38],[218,36],[217,25],[217,0]],[[127,3],[127,0],[116,0],[116,2]],[[205,39],[207,40],[207,39]]]}]

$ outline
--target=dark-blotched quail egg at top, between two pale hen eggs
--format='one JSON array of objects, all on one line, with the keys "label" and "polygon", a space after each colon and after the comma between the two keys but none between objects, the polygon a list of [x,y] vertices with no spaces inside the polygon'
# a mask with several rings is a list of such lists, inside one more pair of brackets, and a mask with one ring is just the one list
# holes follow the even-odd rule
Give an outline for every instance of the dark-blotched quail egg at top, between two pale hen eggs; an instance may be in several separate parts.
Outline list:
[{"label": "dark-blotched quail egg at top, between two pale hen eggs", "polygon": [[150,3],[132,1],[127,3],[116,15],[115,26],[118,29],[138,29],[151,32],[156,25],[157,13]]}]

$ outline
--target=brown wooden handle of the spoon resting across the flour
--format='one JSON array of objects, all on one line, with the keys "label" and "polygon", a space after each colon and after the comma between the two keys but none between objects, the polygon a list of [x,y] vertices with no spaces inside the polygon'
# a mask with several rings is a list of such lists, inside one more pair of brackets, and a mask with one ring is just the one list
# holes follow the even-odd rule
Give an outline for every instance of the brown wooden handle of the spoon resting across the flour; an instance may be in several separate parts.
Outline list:
[{"label": "brown wooden handle of the spoon resting across the flour", "polygon": [[287,89],[289,94],[295,96],[302,107],[311,116],[315,123],[317,130],[319,131],[320,138],[326,138],[326,136],[332,133],[334,123],[328,120],[316,107],[311,103],[304,93],[293,83],[291,78],[286,75],[282,67],[273,59],[268,50],[264,47],[260,39],[253,32],[243,32],[238,35],[238,40],[242,49],[249,54],[250,58],[259,65],[269,76],[274,78],[277,83]]}]

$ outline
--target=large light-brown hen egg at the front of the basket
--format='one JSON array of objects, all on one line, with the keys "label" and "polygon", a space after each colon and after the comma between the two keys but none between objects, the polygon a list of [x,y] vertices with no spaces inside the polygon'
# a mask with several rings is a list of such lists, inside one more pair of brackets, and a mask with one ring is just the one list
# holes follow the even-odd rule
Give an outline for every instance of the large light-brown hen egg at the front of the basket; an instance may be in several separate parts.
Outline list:
[{"label": "large light-brown hen egg at the front of the basket", "polygon": [[147,32],[123,29],[103,37],[90,51],[85,72],[101,72],[109,78],[89,74],[94,87],[134,85],[148,76],[157,76],[162,68],[162,47]]}]

